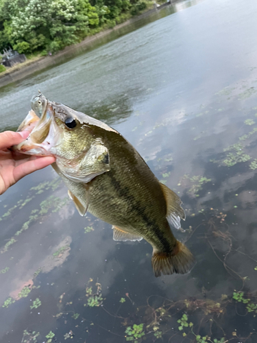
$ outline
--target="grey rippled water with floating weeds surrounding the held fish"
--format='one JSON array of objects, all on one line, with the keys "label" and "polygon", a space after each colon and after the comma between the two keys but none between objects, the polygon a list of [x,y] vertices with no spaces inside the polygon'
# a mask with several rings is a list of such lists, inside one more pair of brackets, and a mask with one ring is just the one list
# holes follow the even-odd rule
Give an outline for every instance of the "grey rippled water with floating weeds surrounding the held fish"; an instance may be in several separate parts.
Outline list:
[{"label": "grey rippled water with floating weeds surrounding the held fish", "polygon": [[0,118],[39,88],[119,130],[182,198],[193,270],[156,279],[151,246],[80,217],[48,167],[0,198],[1,342],[257,342],[257,4],[188,5],[2,88]]}]

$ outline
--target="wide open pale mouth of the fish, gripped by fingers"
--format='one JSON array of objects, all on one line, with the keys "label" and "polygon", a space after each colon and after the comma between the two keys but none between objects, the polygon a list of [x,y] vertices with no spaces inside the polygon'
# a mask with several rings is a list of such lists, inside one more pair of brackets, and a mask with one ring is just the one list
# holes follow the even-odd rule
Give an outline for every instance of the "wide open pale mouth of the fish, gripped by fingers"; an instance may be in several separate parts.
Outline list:
[{"label": "wide open pale mouth of the fish, gripped by fingers", "polygon": [[19,145],[14,145],[13,150],[24,154],[36,156],[51,156],[51,147],[56,143],[56,125],[53,119],[53,110],[47,99],[39,93],[32,97],[32,110],[18,128],[19,131],[27,130],[29,137]]}]

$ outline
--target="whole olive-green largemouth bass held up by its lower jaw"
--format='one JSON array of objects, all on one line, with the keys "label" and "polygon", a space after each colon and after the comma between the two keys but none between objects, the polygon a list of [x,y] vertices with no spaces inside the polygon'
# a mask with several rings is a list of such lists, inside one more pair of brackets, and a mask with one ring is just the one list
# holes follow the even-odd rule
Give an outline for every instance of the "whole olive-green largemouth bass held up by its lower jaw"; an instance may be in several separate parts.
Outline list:
[{"label": "whole olive-green largemouth bass held up by its lower jaw", "polygon": [[186,215],[179,196],[154,176],[136,149],[114,128],[42,93],[18,131],[29,137],[13,150],[55,156],[53,169],[79,215],[89,212],[112,225],[114,241],[145,239],[153,247],[155,276],[184,274],[194,257],[175,238]]}]

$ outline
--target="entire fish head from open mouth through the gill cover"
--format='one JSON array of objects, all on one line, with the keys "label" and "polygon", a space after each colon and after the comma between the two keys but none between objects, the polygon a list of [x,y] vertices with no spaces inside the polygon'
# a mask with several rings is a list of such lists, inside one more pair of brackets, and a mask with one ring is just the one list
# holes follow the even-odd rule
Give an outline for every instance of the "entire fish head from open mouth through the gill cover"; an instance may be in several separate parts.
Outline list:
[{"label": "entire fish head from open mouth through the gill cover", "polygon": [[29,130],[29,137],[13,150],[55,156],[60,171],[76,182],[88,182],[110,170],[108,149],[101,136],[105,130],[115,130],[69,106],[49,101],[42,93],[32,97],[31,104],[32,111],[18,128]]}]

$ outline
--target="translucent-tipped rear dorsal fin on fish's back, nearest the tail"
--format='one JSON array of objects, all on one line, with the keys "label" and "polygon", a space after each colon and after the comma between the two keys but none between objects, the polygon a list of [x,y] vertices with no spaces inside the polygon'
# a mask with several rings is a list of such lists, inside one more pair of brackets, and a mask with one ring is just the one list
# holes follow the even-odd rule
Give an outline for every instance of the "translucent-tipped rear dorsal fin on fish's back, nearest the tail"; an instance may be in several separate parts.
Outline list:
[{"label": "translucent-tipped rear dorsal fin on fish's back, nearest the tail", "polygon": [[160,187],[162,188],[162,192],[167,203],[167,220],[169,220],[174,228],[180,228],[180,218],[182,220],[186,219],[184,209],[182,209],[182,207],[180,206],[182,204],[182,201],[176,193],[171,191],[171,189],[163,185],[161,182]]}]

